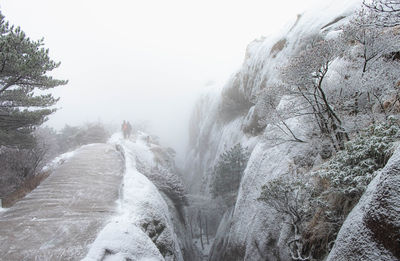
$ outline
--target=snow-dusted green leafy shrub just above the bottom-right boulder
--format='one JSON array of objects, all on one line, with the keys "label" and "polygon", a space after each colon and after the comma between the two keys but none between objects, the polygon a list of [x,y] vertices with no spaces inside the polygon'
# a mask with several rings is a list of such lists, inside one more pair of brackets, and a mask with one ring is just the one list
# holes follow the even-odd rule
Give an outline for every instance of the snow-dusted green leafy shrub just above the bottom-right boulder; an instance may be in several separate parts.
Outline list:
[{"label": "snow-dusted green leafy shrub just above the bottom-right boulder", "polygon": [[398,138],[399,123],[394,118],[371,125],[314,174],[326,180],[331,191],[361,196],[375,171],[385,166]]}]

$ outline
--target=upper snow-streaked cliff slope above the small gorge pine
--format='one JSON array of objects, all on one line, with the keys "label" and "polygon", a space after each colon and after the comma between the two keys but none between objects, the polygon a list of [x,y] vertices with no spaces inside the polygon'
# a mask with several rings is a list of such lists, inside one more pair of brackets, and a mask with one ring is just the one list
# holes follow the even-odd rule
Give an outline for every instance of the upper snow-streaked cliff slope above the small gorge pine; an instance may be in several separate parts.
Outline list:
[{"label": "upper snow-streaked cliff slope above the small gorge pine", "polygon": [[315,10],[299,14],[279,33],[250,43],[242,68],[222,89],[198,100],[190,122],[186,158],[187,179],[189,184],[196,184],[194,191],[200,189],[197,185],[207,179],[208,167],[224,149],[238,142],[252,149],[258,143],[265,128],[259,124],[265,116],[262,95],[281,80],[282,65],[302,41],[315,34],[335,35],[360,5],[360,0],[324,1]]}]

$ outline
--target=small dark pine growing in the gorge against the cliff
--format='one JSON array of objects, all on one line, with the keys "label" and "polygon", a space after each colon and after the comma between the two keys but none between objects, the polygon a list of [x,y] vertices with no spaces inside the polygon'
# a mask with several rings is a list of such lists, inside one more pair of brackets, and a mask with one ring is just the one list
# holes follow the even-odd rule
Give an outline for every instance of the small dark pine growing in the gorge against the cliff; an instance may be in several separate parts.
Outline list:
[{"label": "small dark pine growing in the gorge against the cliff", "polygon": [[221,196],[227,205],[234,203],[248,159],[249,153],[240,143],[220,155],[211,183],[214,198]]}]

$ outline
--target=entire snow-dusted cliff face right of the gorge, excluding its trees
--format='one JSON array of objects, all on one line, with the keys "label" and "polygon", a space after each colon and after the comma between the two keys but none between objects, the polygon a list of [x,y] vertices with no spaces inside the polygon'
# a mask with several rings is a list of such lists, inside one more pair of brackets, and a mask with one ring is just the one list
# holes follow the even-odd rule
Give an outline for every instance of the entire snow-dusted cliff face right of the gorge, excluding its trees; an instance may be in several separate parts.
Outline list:
[{"label": "entire snow-dusted cliff face right of the gorge, excluding its trees", "polygon": [[[278,111],[289,106],[288,97],[276,88],[282,81],[282,66],[304,45],[304,39],[337,37],[361,4],[359,0],[323,1],[279,33],[255,40],[247,48],[242,68],[224,88],[204,95],[195,106],[185,167],[192,193],[209,195],[212,201],[211,168],[218,156],[237,143],[251,151],[236,204],[218,217],[221,222],[210,260],[291,260],[287,245],[292,228],[283,215],[257,200],[261,185],[302,164],[316,166],[326,155],[321,152],[323,144],[277,142],[282,132],[276,125],[260,121],[266,118],[263,106],[268,99]],[[335,70],[340,69],[340,65],[332,65],[325,79],[327,86],[334,86]],[[288,119],[286,124],[301,140],[312,132],[302,117]]]}]

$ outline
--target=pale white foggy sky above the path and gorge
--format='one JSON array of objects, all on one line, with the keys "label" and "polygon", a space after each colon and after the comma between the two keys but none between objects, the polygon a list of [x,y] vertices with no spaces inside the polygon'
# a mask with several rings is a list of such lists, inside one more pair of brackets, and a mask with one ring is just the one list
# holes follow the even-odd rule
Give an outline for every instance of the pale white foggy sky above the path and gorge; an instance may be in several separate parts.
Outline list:
[{"label": "pale white foggy sky above the path and gorge", "polygon": [[182,153],[188,118],[208,82],[222,85],[255,38],[294,20],[307,1],[2,0],[1,12],[61,61],[52,73],[57,129],[147,120]]}]

